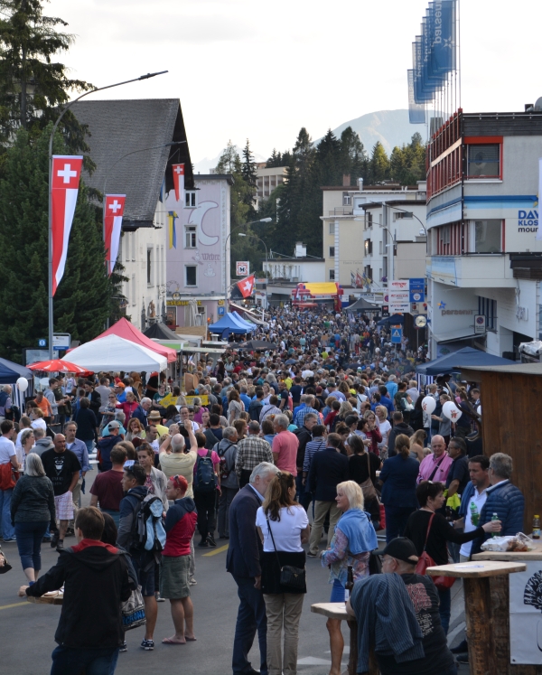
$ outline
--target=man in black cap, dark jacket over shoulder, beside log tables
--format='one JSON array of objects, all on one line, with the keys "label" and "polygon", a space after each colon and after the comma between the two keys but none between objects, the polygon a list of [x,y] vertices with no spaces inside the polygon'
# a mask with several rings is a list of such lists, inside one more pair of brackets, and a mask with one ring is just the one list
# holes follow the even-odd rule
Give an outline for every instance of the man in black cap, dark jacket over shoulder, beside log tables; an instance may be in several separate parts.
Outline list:
[{"label": "man in black cap, dark jacket over shoulder, beside log tables", "polygon": [[[358,672],[369,670],[372,633],[381,675],[457,675],[440,621],[438,593],[431,577],[416,574],[413,542],[397,537],[378,555],[384,574],[356,582],[346,606],[358,620]],[[389,625],[401,630],[389,631]]]}]

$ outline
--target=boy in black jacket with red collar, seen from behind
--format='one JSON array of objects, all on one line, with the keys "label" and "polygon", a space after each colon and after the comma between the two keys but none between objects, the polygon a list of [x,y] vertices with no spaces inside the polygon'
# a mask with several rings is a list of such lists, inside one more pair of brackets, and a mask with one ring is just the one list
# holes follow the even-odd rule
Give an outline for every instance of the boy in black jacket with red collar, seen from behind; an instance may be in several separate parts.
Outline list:
[{"label": "boy in black jacket with red collar, seen from behind", "polygon": [[19,589],[21,596],[39,597],[64,586],[51,675],[70,675],[92,666],[109,672],[117,662],[124,642],[120,606],[131,587],[124,556],[99,540],[103,529],[104,517],[97,508],[79,509],[77,545],[61,551],[57,564],[32,586]]}]

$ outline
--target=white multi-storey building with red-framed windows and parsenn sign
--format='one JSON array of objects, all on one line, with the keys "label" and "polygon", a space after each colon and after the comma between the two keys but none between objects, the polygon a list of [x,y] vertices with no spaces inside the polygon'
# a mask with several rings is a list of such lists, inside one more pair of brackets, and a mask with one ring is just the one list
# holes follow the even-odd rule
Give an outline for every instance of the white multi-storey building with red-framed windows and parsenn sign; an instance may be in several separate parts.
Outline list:
[{"label": "white multi-storey building with red-framed windows and parsenn sign", "polygon": [[464,346],[513,358],[540,337],[542,114],[458,111],[427,156],[433,358]]}]

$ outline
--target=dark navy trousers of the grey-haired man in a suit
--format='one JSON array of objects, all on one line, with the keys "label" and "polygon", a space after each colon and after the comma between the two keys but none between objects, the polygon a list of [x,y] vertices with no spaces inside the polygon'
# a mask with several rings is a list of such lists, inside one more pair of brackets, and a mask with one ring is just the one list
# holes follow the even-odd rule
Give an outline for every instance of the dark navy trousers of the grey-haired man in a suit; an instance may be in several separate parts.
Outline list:
[{"label": "dark navy trousers of the grey-haired man in a suit", "polygon": [[233,657],[231,660],[233,672],[240,675],[240,673],[250,670],[248,652],[252,648],[257,632],[260,650],[260,673],[261,675],[267,675],[267,617],[264,595],[261,590],[254,587],[254,578],[235,576],[233,578],[238,585],[238,596],[241,601],[233,641]]}]

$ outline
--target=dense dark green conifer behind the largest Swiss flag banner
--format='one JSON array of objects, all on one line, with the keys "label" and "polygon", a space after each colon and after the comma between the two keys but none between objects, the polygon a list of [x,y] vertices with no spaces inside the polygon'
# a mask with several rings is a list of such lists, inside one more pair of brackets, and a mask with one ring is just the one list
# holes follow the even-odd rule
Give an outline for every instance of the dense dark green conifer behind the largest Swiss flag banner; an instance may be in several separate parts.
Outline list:
[{"label": "dense dark green conifer behind the largest Swiss flag banner", "polygon": [[[9,312],[0,323],[0,352],[21,361],[48,333],[48,145],[51,125],[31,143],[21,129],[5,155],[0,181],[0,303]],[[66,154],[57,135],[54,152]],[[105,273],[101,209],[80,183],[64,277],[54,297],[54,330],[88,341],[103,330],[119,278]]]}]

